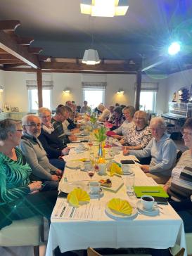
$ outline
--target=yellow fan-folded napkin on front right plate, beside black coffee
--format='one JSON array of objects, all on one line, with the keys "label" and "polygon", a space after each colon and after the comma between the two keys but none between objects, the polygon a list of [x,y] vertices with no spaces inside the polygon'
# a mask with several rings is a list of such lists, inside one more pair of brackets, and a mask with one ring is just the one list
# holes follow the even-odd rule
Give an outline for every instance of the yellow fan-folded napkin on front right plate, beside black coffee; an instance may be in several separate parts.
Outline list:
[{"label": "yellow fan-folded napkin on front right plate, beside black coffee", "polygon": [[131,215],[133,210],[132,206],[127,200],[122,200],[120,198],[111,199],[108,202],[108,208],[115,213],[122,215]]}]

